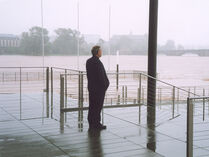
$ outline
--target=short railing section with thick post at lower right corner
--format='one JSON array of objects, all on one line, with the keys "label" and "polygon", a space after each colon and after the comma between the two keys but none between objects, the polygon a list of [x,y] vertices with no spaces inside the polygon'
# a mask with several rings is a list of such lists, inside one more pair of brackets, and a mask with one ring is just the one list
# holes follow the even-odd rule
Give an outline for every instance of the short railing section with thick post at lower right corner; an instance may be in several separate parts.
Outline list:
[{"label": "short railing section with thick post at lower right corner", "polygon": [[[208,102],[208,110],[206,110],[206,101]],[[202,112],[198,112],[198,110],[201,110],[201,108],[202,108]],[[187,157],[193,157],[194,146],[196,149],[203,149],[203,150],[205,149],[204,147],[198,146],[198,144],[194,145],[193,143],[194,143],[195,123],[198,125],[209,123],[209,118],[206,120],[206,117],[205,117],[206,112],[208,112],[208,115],[209,115],[209,97],[188,97],[187,98],[187,140],[186,140],[187,141]],[[209,128],[208,130],[207,128],[204,128],[204,129],[198,128],[198,129],[199,130],[197,130],[197,133],[200,133],[200,132],[209,133]]]}]

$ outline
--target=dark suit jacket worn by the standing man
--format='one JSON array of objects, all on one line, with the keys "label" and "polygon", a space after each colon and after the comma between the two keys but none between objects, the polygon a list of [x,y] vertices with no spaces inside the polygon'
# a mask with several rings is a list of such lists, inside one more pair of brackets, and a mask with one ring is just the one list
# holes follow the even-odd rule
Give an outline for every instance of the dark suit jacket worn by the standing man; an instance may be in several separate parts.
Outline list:
[{"label": "dark suit jacket worn by the standing man", "polygon": [[97,56],[92,56],[86,62],[89,92],[104,93],[109,87],[109,80],[102,62]]}]

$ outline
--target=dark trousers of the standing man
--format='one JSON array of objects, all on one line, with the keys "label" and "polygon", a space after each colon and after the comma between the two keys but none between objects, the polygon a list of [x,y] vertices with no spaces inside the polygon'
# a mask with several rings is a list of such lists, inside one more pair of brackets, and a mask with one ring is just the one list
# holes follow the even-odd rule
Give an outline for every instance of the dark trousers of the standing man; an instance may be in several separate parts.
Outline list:
[{"label": "dark trousers of the standing man", "polygon": [[104,97],[105,92],[89,92],[89,125],[98,125],[100,123]]}]

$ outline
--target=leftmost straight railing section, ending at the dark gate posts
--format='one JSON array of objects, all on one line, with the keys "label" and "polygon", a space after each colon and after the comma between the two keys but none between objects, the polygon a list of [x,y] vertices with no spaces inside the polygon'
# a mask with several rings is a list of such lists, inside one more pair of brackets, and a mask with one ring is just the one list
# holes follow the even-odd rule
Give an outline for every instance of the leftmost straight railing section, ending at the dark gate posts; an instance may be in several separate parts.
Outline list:
[{"label": "leftmost straight railing section, ending at the dark gate posts", "polygon": [[[8,109],[18,108],[19,113],[15,115],[20,120],[48,117],[48,92],[48,67],[0,67],[0,105]],[[42,100],[37,98],[40,96]],[[25,112],[32,105],[34,110],[39,110],[39,107],[42,108],[43,105],[46,105],[44,116],[40,112]]]}]

